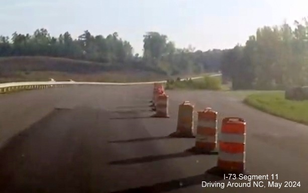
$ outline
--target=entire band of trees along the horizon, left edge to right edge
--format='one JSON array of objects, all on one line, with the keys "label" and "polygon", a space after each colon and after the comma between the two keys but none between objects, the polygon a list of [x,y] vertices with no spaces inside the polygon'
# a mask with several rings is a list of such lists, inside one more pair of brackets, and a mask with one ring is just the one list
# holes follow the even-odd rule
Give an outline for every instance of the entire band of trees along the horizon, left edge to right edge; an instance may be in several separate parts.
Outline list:
[{"label": "entire band of trees along the horizon, left edge to right edge", "polygon": [[233,89],[284,89],[308,84],[308,21],[294,25],[264,26],[251,35],[245,45],[208,51],[176,47],[158,32],[143,39],[143,56],[134,55],[129,41],[118,33],[92,35],[84,31],[73,39],[69,32],[51,37],[46,29],[34,34],[0,36],[0,56],[46,55],[120,64],[134,69],[151,69],[167,75],[223,73]]}]

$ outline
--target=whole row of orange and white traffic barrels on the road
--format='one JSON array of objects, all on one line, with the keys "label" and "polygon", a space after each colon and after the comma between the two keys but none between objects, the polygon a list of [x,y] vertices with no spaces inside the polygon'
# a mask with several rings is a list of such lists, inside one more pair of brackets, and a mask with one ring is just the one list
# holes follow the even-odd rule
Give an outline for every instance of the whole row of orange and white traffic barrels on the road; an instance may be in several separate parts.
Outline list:
[{"label": "whole row of orange and white traffic barrels on the road", "polygon": [[[154,117],[169,117],[168,96],[162,84],[153,88]],[[212,108],[197,111],[194,131],[194,106],[184,101],[178,107],[176,132],[170,137],[195,138],[194,152],[218,154],[217,168],[227,173],[245,173],[246,121],[240,117],[224,117],[218,131],[218,112]]]}]

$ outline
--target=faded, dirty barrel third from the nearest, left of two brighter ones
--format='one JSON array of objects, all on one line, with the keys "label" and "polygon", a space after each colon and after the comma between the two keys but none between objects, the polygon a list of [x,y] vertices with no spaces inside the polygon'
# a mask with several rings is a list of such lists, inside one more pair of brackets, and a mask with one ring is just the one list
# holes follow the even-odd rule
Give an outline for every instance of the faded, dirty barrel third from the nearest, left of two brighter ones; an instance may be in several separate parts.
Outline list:
[{"label": "faded, dirty barrel third from the nearest, left of two brighter ones", "polygon": [[193,138],[193,108],[189,101],[184,101],[178,107],[176,132],[171,137]]}]

